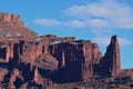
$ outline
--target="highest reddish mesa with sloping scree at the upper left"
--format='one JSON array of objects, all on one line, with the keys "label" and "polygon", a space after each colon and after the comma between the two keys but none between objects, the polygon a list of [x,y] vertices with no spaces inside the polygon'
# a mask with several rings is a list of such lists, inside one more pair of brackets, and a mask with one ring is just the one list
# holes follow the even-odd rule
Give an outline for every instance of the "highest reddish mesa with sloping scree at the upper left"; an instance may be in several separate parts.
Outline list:
[{"label": "highest reddish mesa with sloping scree at the upper left", "polygon": [[20,21],[18,14],[0,12],[0,38],[24,37],[27,39],[32,39],[35,36],[35,32],[24,27],[24,23]]}]

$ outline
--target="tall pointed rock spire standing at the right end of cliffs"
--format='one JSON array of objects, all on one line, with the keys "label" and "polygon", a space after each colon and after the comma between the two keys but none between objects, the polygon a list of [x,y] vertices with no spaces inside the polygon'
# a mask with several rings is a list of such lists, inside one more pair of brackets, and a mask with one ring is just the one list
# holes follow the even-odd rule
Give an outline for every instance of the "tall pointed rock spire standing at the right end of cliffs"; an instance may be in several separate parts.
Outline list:
[{"label": "tall pointed rock spire standing at the right end of cliffs", "polygon": [[[102,70],[104,69],[104,70]],[[101,75],[115,76],[121,71],[120,66],[120,47],[116,36],[111,38],[111,42],[106,48],[105,56],[101,61]]]}]

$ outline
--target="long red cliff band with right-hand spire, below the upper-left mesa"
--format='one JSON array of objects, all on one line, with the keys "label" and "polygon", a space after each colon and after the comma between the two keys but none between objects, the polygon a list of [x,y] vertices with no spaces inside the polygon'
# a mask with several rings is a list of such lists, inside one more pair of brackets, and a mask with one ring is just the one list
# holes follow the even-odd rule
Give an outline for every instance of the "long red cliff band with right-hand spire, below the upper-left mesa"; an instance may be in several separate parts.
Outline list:
[{"label": "long red cliff band with right-hand spire, below the upper-left mesa", "polygon": [[[9,41],[9,44],[1,47],[1,52],[4,52],[1,55],[1,60],[11,62],[14,68],[27,68],[31,72],[37,72],[37,67],[41,71],[39,79],[44,78],[44,80],[35,81],[40,83],[43,83],[45,79],[52,79],[54,82],[89,81],[92,76],[110,77],[121,71],[120,58],[117,58],[119,43],[115,36],[112,37],[104,57],[98,44],[90,40],[69,39],[66,41],[62,40],[63,38],[54,37],[53,39],[53,37],[40,36],[32,41],[16,38],[12,42]],[[23,68],[21,70],[24,72]]]}]

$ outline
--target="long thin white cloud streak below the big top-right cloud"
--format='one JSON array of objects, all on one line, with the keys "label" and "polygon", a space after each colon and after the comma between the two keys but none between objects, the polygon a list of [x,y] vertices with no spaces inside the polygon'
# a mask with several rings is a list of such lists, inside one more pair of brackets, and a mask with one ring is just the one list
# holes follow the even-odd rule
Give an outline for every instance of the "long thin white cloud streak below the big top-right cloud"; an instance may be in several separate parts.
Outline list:
[{"label": "long thin white cloud streak below the big top-right cloud", "polygon": [[54,19],[35,19],[33,21],[35,24],[41,24],[45,27],[69,27],[74,29],[105,29],[111,26],[103,19],[90,19],[90,20],[70,20],[70,21],[59,21]]}]

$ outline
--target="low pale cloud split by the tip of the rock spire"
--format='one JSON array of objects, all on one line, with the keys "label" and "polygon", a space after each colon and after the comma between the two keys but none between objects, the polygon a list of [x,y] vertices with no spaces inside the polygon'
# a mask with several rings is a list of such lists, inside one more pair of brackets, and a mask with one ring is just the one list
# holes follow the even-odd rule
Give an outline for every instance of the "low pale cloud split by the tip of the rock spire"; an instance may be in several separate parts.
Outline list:
[{"label": "low pale cloud split by the tip of the rock spire", "polygon": [[[132,44],[131,40],[124,39],[124,38],[119,38],[119,43],[120,46],[130,46]],[[98,42],[100,46],[109,46],[111,38],[95,38],[93,39],[94,42]]]}]

